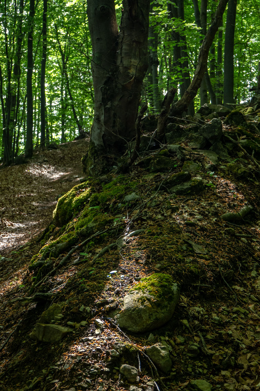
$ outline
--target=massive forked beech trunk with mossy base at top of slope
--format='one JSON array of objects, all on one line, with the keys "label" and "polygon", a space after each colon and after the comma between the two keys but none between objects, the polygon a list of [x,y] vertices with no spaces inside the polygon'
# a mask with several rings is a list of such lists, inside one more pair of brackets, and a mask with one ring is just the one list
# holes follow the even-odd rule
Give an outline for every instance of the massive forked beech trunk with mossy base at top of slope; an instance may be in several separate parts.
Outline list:
[{"label": "massive forked beech trunk with mossy base at top of slope", "polygon": [[135,137],[142,81],[148,68],[150,0],[123,0],[118,31],[114,0],[88,0],[93,57],[94,121],[84,171],[108,171]]}]

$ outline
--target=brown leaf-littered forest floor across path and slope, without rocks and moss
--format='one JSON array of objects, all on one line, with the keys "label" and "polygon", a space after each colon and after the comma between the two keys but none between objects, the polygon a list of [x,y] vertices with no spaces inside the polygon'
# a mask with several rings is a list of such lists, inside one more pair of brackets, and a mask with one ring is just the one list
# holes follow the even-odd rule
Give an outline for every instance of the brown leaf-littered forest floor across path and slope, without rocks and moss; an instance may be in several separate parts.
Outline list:
[{"label": "brown leaf-littered forest floor across path and slope, without rocks and moss", "polygon": [[[115,230],[110,235],[108,229],[106,236],[84,249],[85,254],[82,249],[75,251],[66,265],[34,290],[51,292],[51,301],[20,300],[31,294],[28,265],[52,220],[55,198],[82,176],[80,158],[86,143],[61,145],[58,150],[39,152],[27,164],[0,170],[1,389],[259,389],[260,184],[252,166],[248,178],[224,174],[221,167],[209,174],[208,159],[186,148],[187,160],[201,166],[205,188],[198,195],[175,197],[161,186],[167,173],[151,175],[135,166],[125,178],[136,184],[139,199],[124,205],[115,197],[104,206],[104,213],[118,210],[114,217],[123,222],[125,235],[145,231],[120,251],[112,250],[93,262],[102,248],[118,238]],[[177,160],[176,172],[181,166]],[[93,184],[93,192],[101,191],[101,185]],[[243,220],[231,224],[220,219],[223,213],[237,213],[248,204],[253,212]],[[180,284],[173,318],[153,330],[152,336],[122,332],[110,323],[109,309],[140,277],[158,272],[171,274]],[[63,323],[74,325],[73,333],[59,343],[32,341],[30,332],[52,302],[63,303]],[[96,319],[101,319],[102,327]],[[80,326],[81,321],[86,324]],[[142,355],[151,341],[167,343],[171,350],[173,367],[167,375],[156,373]],[[113,355],[115,351],[119,353]],[[139,369],[139,380],[132,386],[119,373],[122,363]],[[205,382],[195,384],[198,379]]]}]

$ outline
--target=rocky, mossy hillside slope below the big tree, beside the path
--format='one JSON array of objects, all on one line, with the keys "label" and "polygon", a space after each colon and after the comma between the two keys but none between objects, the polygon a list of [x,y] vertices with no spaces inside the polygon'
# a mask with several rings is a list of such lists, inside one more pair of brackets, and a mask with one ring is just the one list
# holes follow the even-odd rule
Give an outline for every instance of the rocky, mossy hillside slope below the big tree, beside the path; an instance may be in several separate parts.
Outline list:
[{"label": "rocky, mossy hillside slope below the big tree, beside the path", "polygon": [[[215,140],[198,146],[205,122],[189,123],[172,124],[174,142],[146,144],[130,173],[78,183],[59,198],[40,244],[2,258],[3,390],[257,389],[257,129],[223,119],[216,156]],[[173,317],[139,334],[122,330],[113,312],[155,273],[180,288]],[[58,342],[37,341],[34,327],[47,323],[53,303],[61,314],[52,323],[70,330]],[[146,354],[156,343],[171,357],[165,373]],[[135,380],[123,364],[136,368]]]}]

